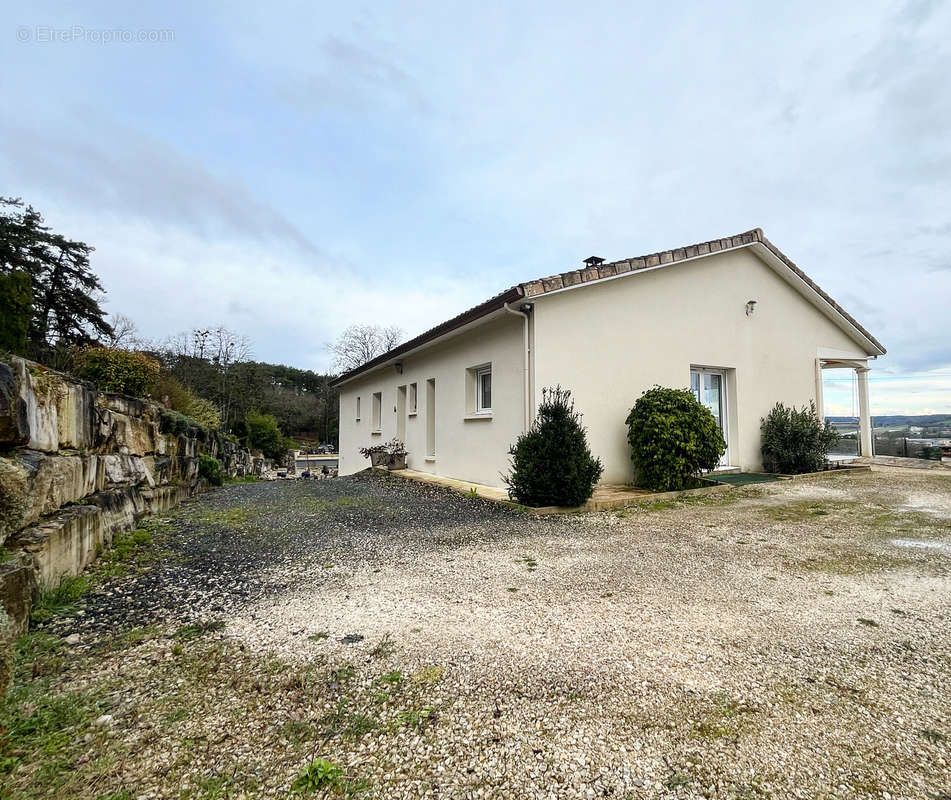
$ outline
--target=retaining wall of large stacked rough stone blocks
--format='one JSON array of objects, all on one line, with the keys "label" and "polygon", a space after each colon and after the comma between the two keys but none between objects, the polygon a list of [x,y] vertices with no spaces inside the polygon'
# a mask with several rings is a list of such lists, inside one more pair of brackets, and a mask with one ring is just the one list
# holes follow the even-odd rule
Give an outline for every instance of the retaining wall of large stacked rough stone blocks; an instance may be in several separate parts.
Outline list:
[{"label": "retaining wall of large stacked rough stone blocks", "polygon": [[0,361],[0,601],[18,632],[37,588],[78,574],[116,533],[206,488],[201,455],[230,477],[265,470],[218,431],[173,428],[181,420],[157,403]]}]

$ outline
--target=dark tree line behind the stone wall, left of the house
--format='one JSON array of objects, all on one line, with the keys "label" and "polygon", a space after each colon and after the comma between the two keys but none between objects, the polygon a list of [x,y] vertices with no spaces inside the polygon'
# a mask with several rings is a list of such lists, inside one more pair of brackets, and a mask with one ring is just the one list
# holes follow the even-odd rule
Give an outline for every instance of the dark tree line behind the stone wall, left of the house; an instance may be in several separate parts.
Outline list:
[{"label": "dark tree line behind the stone wall, left of the house", "polygon": [[[158,365],[149,377],[151,396],[176,412],[251,444],[257,436],[275,452],[290,444],[275,434],[337,444],[334,373],[255,361],[250,340],[220,325],[145,339],[131,318],[103,310],[93,251],[52,231],[19,198],[0,197],[0,351],[80,377],[85,370],[93,380],[115,374],[102,368],[103,359],[108,366],[122,353],[145,354]],[[327,345],[335,372],[391,349],[401,336],[394,327],[350,326]]]}]

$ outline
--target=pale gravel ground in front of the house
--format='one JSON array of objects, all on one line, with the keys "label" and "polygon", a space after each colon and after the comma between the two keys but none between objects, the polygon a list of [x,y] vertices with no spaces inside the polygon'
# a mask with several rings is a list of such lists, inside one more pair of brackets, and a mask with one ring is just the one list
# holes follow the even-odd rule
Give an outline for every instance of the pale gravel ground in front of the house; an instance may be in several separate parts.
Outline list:
[{"label": "pale gravel ground in front of the house", "polygon": [[951,800],[947,474],[563,518],[365,474],[151,528],[43,626],[20,680],[86,698],[82,747],[10,797],[286,797],[322,757],[316,796]]}]

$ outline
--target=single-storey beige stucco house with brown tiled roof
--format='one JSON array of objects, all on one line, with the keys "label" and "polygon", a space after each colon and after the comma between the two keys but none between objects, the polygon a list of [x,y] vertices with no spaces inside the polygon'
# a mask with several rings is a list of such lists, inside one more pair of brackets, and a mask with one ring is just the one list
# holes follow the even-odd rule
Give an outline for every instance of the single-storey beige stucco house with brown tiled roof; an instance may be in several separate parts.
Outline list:
[{"label": "single-storey beige stucco house with brown tiled roof", "polygon": [[724,468],[758,470],[760,418],[816,402],[821,370],[858,373],[871,453],[869,359],[885,348],[755,229],[522,283],[336,379],[340,474],[398,437],[410,469],[502,485],[542,388],[570,389],[605,484],[632,479],[625,419],[654,385],[690,387],[723,429]]}]

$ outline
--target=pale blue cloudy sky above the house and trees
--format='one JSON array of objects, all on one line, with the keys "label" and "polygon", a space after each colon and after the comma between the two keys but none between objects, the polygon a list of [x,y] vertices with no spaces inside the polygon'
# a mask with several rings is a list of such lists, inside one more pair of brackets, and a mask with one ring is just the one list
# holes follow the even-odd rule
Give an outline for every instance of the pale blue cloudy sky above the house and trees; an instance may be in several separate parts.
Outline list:
[{"label": "pale blue cloudy sky above the house and trees", "polygon": [[873,413],[951,412],[951,0],[3,5],[0,194],[146,336],[325,370],[762,227],[888,349]]}]

